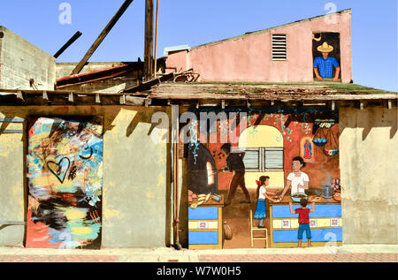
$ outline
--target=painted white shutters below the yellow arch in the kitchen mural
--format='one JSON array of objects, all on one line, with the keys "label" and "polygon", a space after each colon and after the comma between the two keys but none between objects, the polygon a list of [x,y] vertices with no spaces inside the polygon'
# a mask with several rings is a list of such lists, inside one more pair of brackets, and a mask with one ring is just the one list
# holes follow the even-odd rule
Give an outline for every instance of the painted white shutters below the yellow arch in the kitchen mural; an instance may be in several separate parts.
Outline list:
[{"label": "painted white shutters below the yellow arch in the kitchen mural", "polygon": [[283,170],[283,148],[246,148],[245,168],[251,172]]}]

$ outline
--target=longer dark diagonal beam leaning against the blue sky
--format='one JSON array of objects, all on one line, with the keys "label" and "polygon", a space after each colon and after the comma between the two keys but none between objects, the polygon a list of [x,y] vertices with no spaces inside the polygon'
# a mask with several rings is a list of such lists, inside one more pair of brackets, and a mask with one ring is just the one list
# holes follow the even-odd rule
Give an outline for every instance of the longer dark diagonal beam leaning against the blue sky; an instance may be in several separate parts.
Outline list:
[{"label": "longer dark diagonal beam leaning against the blue sky", "polygon": [[93,45],[88,49],[88,52],[86,55],[80,60],[80,63],[76,65],[76,67],[73,69],[72,75],[78,74],[81,69],[83,69],[84,65],[88,62],[88,59],[94,54],[96,49],[99,47],[99,45],[103,42],[103,39],[111,32],[111,29],[115,24],[118,22],[120,17],[125,13],[127,10],[128,6],[133,3],[134,0],[126,0],[125,3],[122,4],[120,7],[119,11],[116,12],[116,14],[113,16],[113,18],[109,21],[109,23],[105,26],[103,29],[103,32],[99,34],[98,38],[96,41],[93,43]]}]

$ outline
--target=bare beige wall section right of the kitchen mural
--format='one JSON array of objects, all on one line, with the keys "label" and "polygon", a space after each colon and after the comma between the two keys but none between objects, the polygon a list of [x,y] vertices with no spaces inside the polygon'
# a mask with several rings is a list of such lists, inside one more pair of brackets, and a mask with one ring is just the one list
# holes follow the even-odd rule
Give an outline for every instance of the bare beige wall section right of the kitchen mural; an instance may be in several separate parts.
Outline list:
[{"label": "bare beige wall section right of the kitchen mural", "polygon": [[344,244],[398,244],[398,111],[340,109]]}]

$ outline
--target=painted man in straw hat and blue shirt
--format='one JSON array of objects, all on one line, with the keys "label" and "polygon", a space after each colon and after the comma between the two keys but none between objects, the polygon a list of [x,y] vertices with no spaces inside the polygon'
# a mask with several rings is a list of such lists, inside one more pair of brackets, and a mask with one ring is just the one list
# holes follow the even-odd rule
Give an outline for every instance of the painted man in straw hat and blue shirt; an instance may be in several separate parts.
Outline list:
[{"label": "painted man in straw hat and blue shirt", "polygon": [[333,47],[324,42],[318,47],[318,51],[322,53],[322,57],[317,57],[314,60],[314,71],[315,75],[319,80],[323,78],[333,78],[333,66],[336,68],[336,74],[334,75],[333,81],[339,79],[340,74],[340,64],[337,62],[336,58],[329,57],[329,53],[333,51]]}]

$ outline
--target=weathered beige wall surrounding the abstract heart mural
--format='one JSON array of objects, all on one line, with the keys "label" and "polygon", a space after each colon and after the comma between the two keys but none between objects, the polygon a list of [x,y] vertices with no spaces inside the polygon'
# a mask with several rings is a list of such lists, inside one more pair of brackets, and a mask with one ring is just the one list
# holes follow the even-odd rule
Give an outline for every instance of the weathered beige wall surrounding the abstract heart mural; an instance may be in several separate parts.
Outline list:
[{"label": "weathered beige wall surrounding the abstract heart mural", "polygon": [[[103,116],[103,247],[169,244],[169,150],[151,136],[161,108],[120,106],[0,107],[0,117]],[[4,123],[2,129],[23,129]],[[24,221],[27,207],[26,133],[0,134],[0,220]],[[0,229],[0,246],[20,246],[25,227]]]}]

